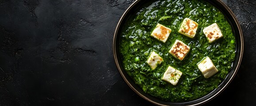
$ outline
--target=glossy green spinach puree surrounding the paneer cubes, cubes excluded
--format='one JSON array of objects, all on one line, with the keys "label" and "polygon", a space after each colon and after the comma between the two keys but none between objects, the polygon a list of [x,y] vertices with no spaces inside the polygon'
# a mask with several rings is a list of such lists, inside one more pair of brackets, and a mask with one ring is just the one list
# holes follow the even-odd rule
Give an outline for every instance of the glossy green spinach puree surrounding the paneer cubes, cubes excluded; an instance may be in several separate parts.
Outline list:
[{"label": "glossy green spinach puree surrounding the paneer cubes, cubes excluded", "polygon": [[[178,33],[185,18],[198,23],[194,38]],[[172,30],[165,43],[150,36],[157,23]],[[218,24],[223,37],[209,43],[202,30],[213,23]],[[168,53],[176,39],[190,46],[190,52],[182,61]],[[167,102],[188,102],[209,94],[225,79],[233,66],[235,40],[225,16],[204,0],[148,1],[126,21],[120,38],[120,53],[125,71],[144,92]],[[146,62],[152,51],[164,60],[155,70]],[[206,56],[218,69],[208,79],[197,66]],[[161,80],[168,65],[182,72],[176,86]]]}]

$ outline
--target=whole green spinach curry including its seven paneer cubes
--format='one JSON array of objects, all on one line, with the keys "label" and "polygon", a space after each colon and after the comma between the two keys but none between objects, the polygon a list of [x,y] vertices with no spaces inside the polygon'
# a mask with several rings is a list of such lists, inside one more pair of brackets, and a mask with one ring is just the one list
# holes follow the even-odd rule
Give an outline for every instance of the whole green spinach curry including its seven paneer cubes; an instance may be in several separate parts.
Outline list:
[{"label": "whole green spinach curry including its seven paneer cubes", "polygon": [[124,70],[144,92],[167,102],[209,94],[226,78],[236,55],[231,25],[203,0],[147,1],[120,36]]}]

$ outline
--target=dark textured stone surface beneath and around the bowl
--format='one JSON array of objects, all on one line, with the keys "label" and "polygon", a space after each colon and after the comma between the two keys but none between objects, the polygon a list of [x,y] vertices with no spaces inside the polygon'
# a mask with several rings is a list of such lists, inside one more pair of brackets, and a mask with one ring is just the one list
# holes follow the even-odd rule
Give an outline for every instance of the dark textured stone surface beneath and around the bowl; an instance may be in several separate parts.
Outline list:
[{"label": "dark textured stone surface beneath and around the bowl", "polygon": [[[0,106],[153,106],[128,87],[112,54],[134,0],[0,0]],[[223,0],[244,34],[232,83],[205,106],[256,104],[256,1]]]}]

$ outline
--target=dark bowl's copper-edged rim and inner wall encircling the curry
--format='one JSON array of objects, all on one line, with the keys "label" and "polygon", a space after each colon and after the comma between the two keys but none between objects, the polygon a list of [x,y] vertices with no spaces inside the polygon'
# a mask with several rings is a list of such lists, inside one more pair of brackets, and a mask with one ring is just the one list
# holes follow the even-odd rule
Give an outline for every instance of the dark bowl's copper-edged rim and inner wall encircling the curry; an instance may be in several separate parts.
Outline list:
[{"label": "dark bowl's copper-edged rim and inner wall encircling the curry", "polygon": [[[115,62],[116,62],[116,66],[120,72],[120,75],[123,77],[124,81],[128,84],[129,87],[132,88],[133,91],[136,92],[136,94],[140,95],[140,97],[146,99],[147,101],[155,104],[155,105],[159,105],[159,106],[168,106],[168,105],[190,105],[190,106],[198,106],[198,105],[202,105],[206,102],[209,102],[210,100],[212,100],[213,98],[215,98],[217,95],[219,95],[222,91],[225,90],[225,88],[229,85],[229,83],[233,80],[233,78],[236,76],[237,74],[237,71],[240,67],[240,63],[242,61],[242,57],[243,57],[243,51],[244,51],[244,40],[243,40],[243,33],[242,33],[242,30],[241,30],[241,27],[240,27],[240,24],[236,18],[236,16],[234,15],[233,11],[231,11],[231,9],[226,5],[224,4],[221,0],[209,0],[209,2],[211,1],[214,1],[214,2],[217,2],[218,4],[220,4],[220,6],[222,6],[221,8],[225,8],[225,10],[223,11],[226,11],[228,12],[229,14],[228,15],[231,15],[231,17],[228,17],[229,20],[233,21],[230,22],[231,23],[231,26],[233,27],[233,30],[236,29],[235,31],[238,31],[238,34],[239,36],[236,36],[237,34],[235,34],[236,36],[236,42],[237,42],[237,47],[236,47],[236,52],[237,52],[237,55],[236,55],[236,58],[235,58],[235,61],[236,64],[234,64],[233,66],[233,70],[231,70],[228,74],[229,78],[226,77],[226,79],[220,84],[220,86],[215,89],[214,91],[212,91],[211,93],[209,93],[208,95],[202,97],[202,98],[205,98],[207,96],[206,99],[204,100],[201,100],[199,102],[197,102],[199,99],[202,99],[202,98],[199,98],[197,100],[194,100],[194,101],[191,101],[191,102],[184,102],[184,103],[171,103],[171,102],[161,102],[160,100],[155,100],[155,99],[152,99],[152,97],[148,96],[148,95],[145,95],[145,94],[142,94],[142,92],[140,92],[138,90],[138,88],[136,88],[136,85],[133,85],[130,81],[128,81],[128,78],[127,76],[125,76],[125,71],[124,69],[121,67],[122,64],[120,64],[120,59],[118,58],[118,56],[120,55],[119,54],[119,49],[117,48],[116,45],[119,45],[119,44],[116,44],[119,40],[117,39],[118,36],[118,31],[120,31],[119,29],[122,28],[120,27],[121,26],[121,23],[124,21],[124,17],[128,15],[128,12],[132,10],[132,8],[134,8],[135,5],[139,4],[140,1],[143,1],[143,0],[136,0],[131,6],[129,6],[129,8],[124,12],[124,14],[121,16],[117,26],[116,26],[116,30],[115,30],[115,33],[114,33],[114,37],[113,37],[113,54],[114,54],[114,59],[115,59]],[[216,6],[215,6],[216,7]],[[220,8],[219,8],[220,9]],[[221,10],[221,9],[220,9]],[[238,37],[238,38],[237,38]],[[118,60],[119,59],[119,60]]]}]

